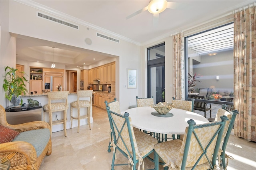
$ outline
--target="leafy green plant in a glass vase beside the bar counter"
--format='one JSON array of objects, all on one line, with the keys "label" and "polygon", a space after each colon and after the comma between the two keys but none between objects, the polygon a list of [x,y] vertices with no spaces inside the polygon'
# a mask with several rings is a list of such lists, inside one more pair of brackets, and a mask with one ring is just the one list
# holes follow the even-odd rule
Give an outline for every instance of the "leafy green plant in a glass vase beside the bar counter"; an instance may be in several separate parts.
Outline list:
[{"label": "leafy green plant in a glass vase beside the bar counter", "polygon": [[[5,67],[3,84],[5,98],[12,103],[13,107],[18,106],[20,102],[22,104],[22,99],[20,98],[20,95],[26,95],[26,92],[28,93],[25,82],[29,82],[24,76],[19,77],[18,75],[16,75],[17,70],[18,69],[14,69],[8,66]],[[21,73],[24,72],[22,71]]]}]

